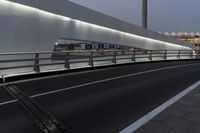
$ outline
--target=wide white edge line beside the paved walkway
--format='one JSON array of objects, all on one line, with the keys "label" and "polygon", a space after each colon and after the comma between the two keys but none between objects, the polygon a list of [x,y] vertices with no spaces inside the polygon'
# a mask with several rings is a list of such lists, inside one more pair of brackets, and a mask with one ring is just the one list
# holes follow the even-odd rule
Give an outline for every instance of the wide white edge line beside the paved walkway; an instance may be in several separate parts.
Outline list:
[{"label": "wide white edge line beside the paved walkway", "polygon": [[172,104],[174,104],[175,102],[180,100],[182,97],[187,95],[192,90],[196,89],[199,85],[200,85],[200,80],[197,81],[196,83],[194,83],[193,85],[191,85],[190,87],[186,88],[184,91],[180,92],[176,96],[172,97],[170,100],[163,103],[159,107],[155,108],[151,112],[147,113],[146,115],[144,115],[143,117],[141,117],[140,119],[135,121],[133,124],[129,125],[125,129],[120,131],[119,133],[133,133],[133,132],[135,132],[137,129],[142,127],[144,124],[148,123],[151,119],[153,119],[155,116],[157,116],[162,111],[167,109],[169,106],[171,106]]}]

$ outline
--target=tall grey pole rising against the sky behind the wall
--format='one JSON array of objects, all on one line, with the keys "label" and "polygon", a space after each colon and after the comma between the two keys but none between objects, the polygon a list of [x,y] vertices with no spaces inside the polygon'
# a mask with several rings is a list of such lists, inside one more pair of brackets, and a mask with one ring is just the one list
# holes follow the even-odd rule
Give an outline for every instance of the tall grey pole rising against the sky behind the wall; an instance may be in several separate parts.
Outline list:
[{"label": "tall grey pole rising against the sky behind the wall", "polygon": [[147,17],[148,17],[148,2],[142,0],[142,27],[147,29]]}]

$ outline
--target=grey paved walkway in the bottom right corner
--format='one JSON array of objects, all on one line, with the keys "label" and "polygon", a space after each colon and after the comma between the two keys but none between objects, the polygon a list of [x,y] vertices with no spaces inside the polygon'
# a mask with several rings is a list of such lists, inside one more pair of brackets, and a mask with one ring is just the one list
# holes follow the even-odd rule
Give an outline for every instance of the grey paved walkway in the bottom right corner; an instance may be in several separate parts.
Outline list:
[{"label": "grey paved walkway in the bottom right corner", "polygon": [[135,133],[199,133],[200,86]]}]

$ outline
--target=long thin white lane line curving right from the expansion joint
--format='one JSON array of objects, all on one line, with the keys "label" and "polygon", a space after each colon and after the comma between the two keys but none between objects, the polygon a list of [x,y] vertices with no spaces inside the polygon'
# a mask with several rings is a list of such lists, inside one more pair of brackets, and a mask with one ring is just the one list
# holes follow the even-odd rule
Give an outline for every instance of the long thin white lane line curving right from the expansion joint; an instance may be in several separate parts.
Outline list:
[{"label": "long thin white lane line curving right from the expansion joint", "polygon": [[62,92],[62,91],[66,91],[66,90],[69,90],[69,89],[79,88],[79,87],[83,87],[83,86],[93,85],[93,84],[97,84],[97,83],[102,83],[102,82],[107,82],[107,81],[112,81],[112,80],[127,78],[127,77],[131,77],[131,76],[136,76],[136,75],[141,75],[141,74],[147,74],[147,73],[152,73],[152,72],[156,72],[156,71],[173,69],[173,68],[179,68],[179,67],[194,66],[194,65],[199,65],[199,64],[200,63],[187,64],[187,65],[178,65],[178,66],[164,67],[164,68],[153,69],[153,70],[148,70],[148,71],[143,71],[143,72],[138,72],[138,73],[127,74],[127,75],[123,75],[123,76],[118,76],[118,77],[113,77],[113,78],[108,78],[108,79],[93,81],[93,82],[89,82],[89,83],[85,83],[85,84],[81,84],[81,85],[76,85],[76,86],[72,86],[72,87],[67,87],[67,88],[63,88],[63,89],[59,89],[59,90],[44,92],[44,93],[33,95],[33,96],[31,96],[31,98],[39,97],[39,96],[44,96],[44,95],[49,95],[49,94],[53,94],[53,93],[57,93],[57,92]]}]

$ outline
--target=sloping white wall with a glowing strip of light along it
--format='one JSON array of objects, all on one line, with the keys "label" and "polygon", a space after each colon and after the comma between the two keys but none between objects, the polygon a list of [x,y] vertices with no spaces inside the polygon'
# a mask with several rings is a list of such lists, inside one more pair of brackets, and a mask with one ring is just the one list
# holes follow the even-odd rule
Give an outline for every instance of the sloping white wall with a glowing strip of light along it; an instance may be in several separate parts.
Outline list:
[{"label": "sloping white wall with a glowing strip of light along it", "polygon": [[51,51],[58,38],[143,49],[194,48],[185,42],[146,31],[68,0],[0,0],[0,20],[0,52]]}]

